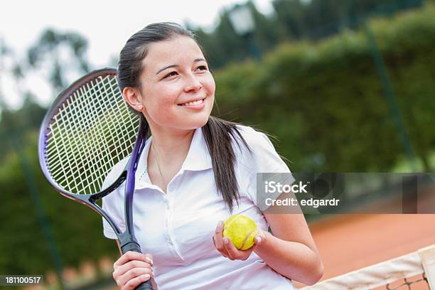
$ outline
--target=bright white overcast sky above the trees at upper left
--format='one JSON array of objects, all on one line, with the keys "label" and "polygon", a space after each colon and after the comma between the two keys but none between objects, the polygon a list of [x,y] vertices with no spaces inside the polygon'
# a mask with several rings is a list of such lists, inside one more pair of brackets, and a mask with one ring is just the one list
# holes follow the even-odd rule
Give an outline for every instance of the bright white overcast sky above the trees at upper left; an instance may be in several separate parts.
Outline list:
[{"label": "bright white overcast sky above the trees at upper left", "polygon": [[[0,41],[11,47],[18,58],[25,56],[26,49],[36,43],[45,28],[56,31],[73,31],[88,41],[87,59],[96,68],[107,66],[129,36],[149,23],[172,21],[201,26],[211,30],[218,21],[222,9],[245,0],[184,0],[184,1],[6,1],[0,10]],[[254,0],[257,9],[270,14],[271,0]],[[1,63],[0,63],[1,64]],[[6,68],[7,63],[1,67]],[[0,68],[1,70],[1,68]],[[36,87],[36,97],[41,104],[53,100],[53,92],[38,76],[28,82]],[[0,71],[0,90],[7,95],[7,104],[19,107],[21,100],[16,85],[4,69]]]}]

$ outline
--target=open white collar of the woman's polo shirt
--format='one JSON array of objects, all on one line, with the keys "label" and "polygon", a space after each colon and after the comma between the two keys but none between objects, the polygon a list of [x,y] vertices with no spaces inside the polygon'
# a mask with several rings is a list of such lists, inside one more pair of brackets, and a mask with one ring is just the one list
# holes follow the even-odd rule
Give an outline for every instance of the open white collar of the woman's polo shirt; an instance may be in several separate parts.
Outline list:
[{"label": "open white collar of the woman's polo shirt", "polygon": [[[152,136],[146,140],[144,150],[139,157],[139,164],[136,170],[136,188],[154,187],[154,185],[149,183],[149,178],[147,178],[146,174],[151,141]],[[209,168],[213,168],[213,163],[203,136],[203,129],[198,128],[193,133],[188,154],[180,171],[202,171]]]}]

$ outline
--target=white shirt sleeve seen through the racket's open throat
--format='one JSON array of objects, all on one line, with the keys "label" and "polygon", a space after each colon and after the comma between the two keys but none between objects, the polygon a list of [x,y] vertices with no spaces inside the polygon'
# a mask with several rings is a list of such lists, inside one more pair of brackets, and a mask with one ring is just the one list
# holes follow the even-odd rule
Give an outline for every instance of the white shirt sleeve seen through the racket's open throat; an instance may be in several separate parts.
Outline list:
[{"label": "white shirt sleeve seen through the racket's open throat", "polygon": [[[107,174],[102,188],[107,188],[107,186],[112,185],[114,181],[117,180],[119,175],[122,173],[124,166],[127,164],[128,158],[123,159],[119,163],[117,163],[112,170]],[[121,230],[124,230],[124,184],[119,186],[117,189],[113,190],[112,193],[104,196],[102,198],[102,209],[104,212],[109,215],[109,217],[113,220],[114,224],[117,225]],[[117,235],[115,234],[112,227],[109,225],[109,222],[105,218],[102,218],[103,222],[103,234],[104,237],[109,239],[117,239]]]}]

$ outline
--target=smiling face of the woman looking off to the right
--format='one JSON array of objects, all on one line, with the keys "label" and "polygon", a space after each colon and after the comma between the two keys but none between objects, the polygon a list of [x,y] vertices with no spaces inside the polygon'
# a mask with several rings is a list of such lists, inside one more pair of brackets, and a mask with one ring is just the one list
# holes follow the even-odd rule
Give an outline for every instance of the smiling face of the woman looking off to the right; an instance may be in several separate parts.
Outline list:
[{"label": "smiling face of the woman looking off to the right", "polygon": [[213,109],[215,80],[192,38],[176,36],[152,43],[142,68],[137,102],[143,105],[139,107],[151,131],[158,127],[196,129],[207,123]]}]

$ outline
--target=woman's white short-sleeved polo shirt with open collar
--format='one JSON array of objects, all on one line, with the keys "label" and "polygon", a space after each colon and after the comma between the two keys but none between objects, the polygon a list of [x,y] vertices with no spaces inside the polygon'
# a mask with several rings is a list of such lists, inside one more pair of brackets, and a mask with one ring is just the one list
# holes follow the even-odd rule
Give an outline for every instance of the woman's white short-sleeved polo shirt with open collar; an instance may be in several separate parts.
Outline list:
[{"label": "woman's white short-sleeved polo shirt with open collar", "polygon": [[[240,184],[240,205],[235,203],[233,214],[243,211],[267,231],[267,221],[256,205],[256,173],[290,171],[265,134],[250,127],[238,128],[253,154],[233,144]],[[146,170],[151,139],[146,141],[136,171],[133,221],[142,252],[153,255],[159,290],[295,289],[291,280],[275,272],[255,252],[246,261],[231,261],[215,249],[212,237],[216,225],[231,214],[216,190],[202,129],[195,129],[186,160],[168,183],[167,193],[151,184]],[[124,159],[114,166],[104,186],[114,182],[126,163]],[[124,184],[104,197],[102,203],[123,231]],[[104,219],[103,226],[104,236],[117,238]]]}]

